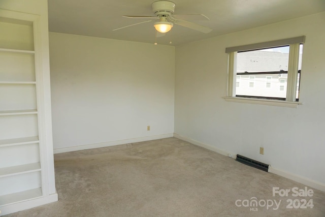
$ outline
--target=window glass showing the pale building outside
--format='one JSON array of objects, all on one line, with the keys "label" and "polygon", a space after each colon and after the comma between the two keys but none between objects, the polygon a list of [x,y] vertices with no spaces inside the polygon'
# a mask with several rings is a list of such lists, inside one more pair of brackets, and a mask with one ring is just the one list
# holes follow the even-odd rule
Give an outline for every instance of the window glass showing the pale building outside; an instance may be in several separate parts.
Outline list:
[{"label": "window glass showing the pale building outside", "polygon": [[240,74],[236,95],[286,98],[287,74],[281,71],[288,70],[288,62],[289,46],[238,52],[237,73],[247,73]]}]

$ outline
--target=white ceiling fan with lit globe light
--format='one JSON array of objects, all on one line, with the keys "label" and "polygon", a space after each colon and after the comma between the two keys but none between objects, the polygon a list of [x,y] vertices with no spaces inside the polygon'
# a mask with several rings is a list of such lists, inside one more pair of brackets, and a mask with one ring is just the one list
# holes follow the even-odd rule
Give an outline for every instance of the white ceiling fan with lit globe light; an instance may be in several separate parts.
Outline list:
[{"label": "white ceiling fan with lit globe light", "polygon": [[[133,18],[133,19],[159,19],[159,21],[154,23],[154,27],[159,33],[163,33],[163,34],[169,32],[174,24],[181,25],[190,29],[194,29],[202,33],[210,33],[212,31],[212,29],[209,27],[186,21],[186,20],[209,20],[208,17],[206,17],[203,14],[173,15],[175,6],[176,6],[175,3],[170,1],[157,1],[151,4],[152,11],[156,15],[155,17],[137,16],[137,15],[136,16],[123,15],[123,17]],[[143,22],[123,26],[120,28],[113,29],[113,31],[126,28],[129,26],[138,25],[145,22],[151,22],[151,21],[152,20],[146,20]]]}]

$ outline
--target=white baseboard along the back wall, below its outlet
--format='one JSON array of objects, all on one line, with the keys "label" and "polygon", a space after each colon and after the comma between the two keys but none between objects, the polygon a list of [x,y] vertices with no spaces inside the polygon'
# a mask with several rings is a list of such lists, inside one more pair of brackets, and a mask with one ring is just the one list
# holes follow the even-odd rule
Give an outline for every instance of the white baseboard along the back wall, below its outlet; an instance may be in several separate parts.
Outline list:
[{"label": "white baseboard along the back wall, below its outlet", "polygon": [[64,152],[70,152],[70,151],[79,151],[79,150],[86,150],[86,149],[92,149],[92,148],[102,148],[102,147],[108,147],[108,146],[114,146],[114,145],[122,145],[122,144],[134,143],[134,142],[144,142],[144,141],[155,140],[155,139],[164,139],[164,138],[169,138],[169,137],[173,137],[173,133],[139,137],[139,138],[133,138],[133,139],[123,139],[123,140],[102,142],[102,143],[95,143],[95,144],[88,144],[88,145],[78,145],[78,146],[66,147],[66,148],[56,148],[53,150],[53,152],[54,153],[64,153]]}]

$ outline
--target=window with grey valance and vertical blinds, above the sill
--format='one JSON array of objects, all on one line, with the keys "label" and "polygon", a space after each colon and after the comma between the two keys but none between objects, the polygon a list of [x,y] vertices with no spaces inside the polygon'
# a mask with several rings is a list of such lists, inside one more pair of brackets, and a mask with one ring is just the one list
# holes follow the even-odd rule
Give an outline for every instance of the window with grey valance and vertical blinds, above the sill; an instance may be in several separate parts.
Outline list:
[{"label": "window with grey valance and vertical blinds, above the sill", "polygon": [[[228,97],[298,102],[304,40],[302,36],[226,48]],[[240,88],[235,75],[240,76]]]}]

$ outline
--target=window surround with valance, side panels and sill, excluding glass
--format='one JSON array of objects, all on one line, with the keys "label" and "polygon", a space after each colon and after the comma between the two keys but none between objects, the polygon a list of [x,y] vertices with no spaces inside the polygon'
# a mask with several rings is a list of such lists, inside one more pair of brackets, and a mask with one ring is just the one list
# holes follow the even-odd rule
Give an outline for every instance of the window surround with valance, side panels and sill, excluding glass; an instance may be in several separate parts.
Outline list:
[{"label": "window surround with valance, side panels and sill, excluding glass", "polygon": [[[237,47],[226,48],[225,52],[229,54],[228,61],[228,96],[223,97],[228,102],[251,103],[261,105],[283,106],[297,108],[302,102],[296,102],[298,62],[299,62],[299,46],[305,42],[305,36],[283,39],[271,42],[263,42],[258,44],[243,45]],[[236,77],[235,66],[237,66],[237,52],[255,49],[264,49],[277,46],[289,45],[289,65],[288,65],[288,82],[286,90],[286,100],[269,100],[257,98],[236,97]]]}]

